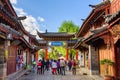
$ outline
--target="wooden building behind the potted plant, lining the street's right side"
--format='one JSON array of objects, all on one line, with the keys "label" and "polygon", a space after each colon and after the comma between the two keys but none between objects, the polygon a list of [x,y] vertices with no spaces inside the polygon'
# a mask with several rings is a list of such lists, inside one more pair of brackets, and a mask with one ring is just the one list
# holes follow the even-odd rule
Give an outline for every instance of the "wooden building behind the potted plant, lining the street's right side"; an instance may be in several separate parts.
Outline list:
[{"label": "wooden building behind the potted plant, lining the street's right side", "polygon": [[104,0],[90,6],[93,10],[77,33],[78,42],[74,48],[81,51],[83,66],[89,69],[91,75],[103,76],[105,68],[100,61],[112,60],[114,65],[109,67],[109,74],[119,80],[120,0]]}]

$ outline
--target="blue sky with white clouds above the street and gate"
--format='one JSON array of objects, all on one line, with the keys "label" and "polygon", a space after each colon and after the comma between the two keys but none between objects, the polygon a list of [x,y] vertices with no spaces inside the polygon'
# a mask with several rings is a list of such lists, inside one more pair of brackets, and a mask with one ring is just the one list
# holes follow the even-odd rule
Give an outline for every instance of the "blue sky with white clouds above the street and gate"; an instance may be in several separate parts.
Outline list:
[{"label": "blue sky with white clouds above the street and gate", "polygon": [[39,32],[57,32],[63,21],[72,21],[81,27],[92,8],[103,0],[10,0],[24,28],[31,34]]}]

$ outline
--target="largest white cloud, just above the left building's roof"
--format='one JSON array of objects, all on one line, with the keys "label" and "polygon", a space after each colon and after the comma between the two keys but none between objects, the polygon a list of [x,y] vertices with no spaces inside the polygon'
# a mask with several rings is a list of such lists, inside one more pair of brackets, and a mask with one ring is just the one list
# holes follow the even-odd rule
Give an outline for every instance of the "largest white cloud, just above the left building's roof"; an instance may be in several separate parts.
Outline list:
[{"label": "largest white cloud, just above the left building's roof", "polygon": [[22,8],[14,7],[14,9],[17,12],[18,17],[19,16],[27,17],[25,20],[21,20],[26,31],[30,32],[33,35],[37,35],[36,30],[38,30],[39,32],[43,32],[43,31],[40,31],[39,24],[32,15],[28,15]]}]

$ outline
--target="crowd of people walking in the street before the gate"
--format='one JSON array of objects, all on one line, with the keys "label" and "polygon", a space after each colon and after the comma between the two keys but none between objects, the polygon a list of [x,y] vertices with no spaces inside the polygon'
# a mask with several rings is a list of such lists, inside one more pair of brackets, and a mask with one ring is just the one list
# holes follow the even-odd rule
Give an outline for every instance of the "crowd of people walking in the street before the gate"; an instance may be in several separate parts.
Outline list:
[{"label": "crowd of people walking in the street before the gate", "polygon": [[37,70],[37,74],[44,74],[45,71],[51,71],[53,75],[66,75],[66,70],[76,74],[75,59],[66,61],[65,59],[58,60],[39,60],[33,61],[33,71]]}]

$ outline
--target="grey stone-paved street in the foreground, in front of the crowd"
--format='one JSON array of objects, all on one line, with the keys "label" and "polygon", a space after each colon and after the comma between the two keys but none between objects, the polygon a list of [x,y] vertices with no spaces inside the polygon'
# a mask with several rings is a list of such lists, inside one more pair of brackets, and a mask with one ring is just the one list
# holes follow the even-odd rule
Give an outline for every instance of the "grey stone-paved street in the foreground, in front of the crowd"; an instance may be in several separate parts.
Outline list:
[{"label": "grey stone-paved street in the foreground, in front of the crowd", "polygon": [[52,75],[51,71],[46,71],[44,75],[38,75],[30,72],[28,75],[23,75],[18,80],[94,80],[89,75],[82,75],[79,70],[76,75],[67,71],[66,75]]}]

